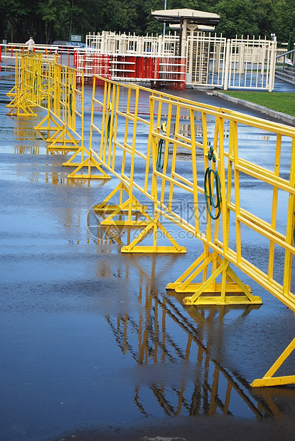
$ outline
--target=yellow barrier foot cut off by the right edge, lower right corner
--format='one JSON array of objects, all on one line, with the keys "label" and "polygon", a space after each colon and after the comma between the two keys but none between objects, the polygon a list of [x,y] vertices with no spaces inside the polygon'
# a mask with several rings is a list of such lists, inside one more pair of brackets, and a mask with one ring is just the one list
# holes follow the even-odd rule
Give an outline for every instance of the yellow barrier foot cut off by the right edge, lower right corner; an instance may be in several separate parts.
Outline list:
[{"label": "yellow barrier foot cut off by the right edge, lower right corner", "polygon": [[295,339],[291,341],[289,346],[284,350],[283,354],[279,356],[277,361],[272,365],[269,371],[263,378],[254,380],[251,386],[253,388],[259,388],[262,386],[283,386],[284,384],[295,384],[295,375],[274,377],[274,373],[277,372],[279,367],[284,363],[286,358],[289,357],[292,351],[295,349]]}]

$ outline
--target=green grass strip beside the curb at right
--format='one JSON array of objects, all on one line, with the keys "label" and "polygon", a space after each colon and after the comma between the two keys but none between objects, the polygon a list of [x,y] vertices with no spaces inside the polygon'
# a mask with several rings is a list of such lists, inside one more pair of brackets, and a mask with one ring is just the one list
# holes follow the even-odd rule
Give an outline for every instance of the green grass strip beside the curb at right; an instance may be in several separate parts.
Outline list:
[{"label": "green grass strip beside the curb at right", "polygon": [[240,100],[254,102],[276,112],[283,112],[286,115],[295,117],[295,93],[284,92],[243,92],[240,90],[222,91],[230,97]]}]

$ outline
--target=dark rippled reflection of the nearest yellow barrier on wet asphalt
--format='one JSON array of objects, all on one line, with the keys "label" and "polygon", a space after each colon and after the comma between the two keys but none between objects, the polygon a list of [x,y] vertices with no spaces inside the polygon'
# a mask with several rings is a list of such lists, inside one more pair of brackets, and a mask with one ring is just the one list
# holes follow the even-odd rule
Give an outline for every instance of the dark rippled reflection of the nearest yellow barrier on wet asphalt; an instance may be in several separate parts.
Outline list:
[{"label": "dark rippled reflection of the nearest yellow barrier on wet asphalt", "polygon": [[[100,265],[97,272],[105,276],[117,270],[124,280],[134,277],[134,272],[139,280],[139,307],[118,317],[113,313],[107,316],[107,322],[119,349],[136,361],[132,380],[134,403],[140,413],[148,413],[152,396],[166,415],[171,416],[216,413],[235,416],[241,405],[259,420],[280,415],[271,397],[254,395],[247,381],[210,356],[213,341],[208,339],[208,327],[222,329],[225,314],[222,307],[218,311],[189,309],[192,323],[177,302],[151,289],[151,280],[163,277],[165,272],[161,274],[154,256],[149,259],[149,265],[134,256],[126,269],[125,266],[115,269],[112,261],[108,262],[109,265],[105,261],[97,263]],[[177,331],[173,331],[174,326]]]}]

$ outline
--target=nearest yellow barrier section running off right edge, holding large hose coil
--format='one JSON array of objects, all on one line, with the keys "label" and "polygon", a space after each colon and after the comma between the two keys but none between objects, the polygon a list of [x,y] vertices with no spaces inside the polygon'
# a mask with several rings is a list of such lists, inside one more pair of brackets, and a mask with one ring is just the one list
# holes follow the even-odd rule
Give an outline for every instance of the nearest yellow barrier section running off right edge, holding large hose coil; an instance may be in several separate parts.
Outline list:
[{"label": "nearest yellow barrier section running off right edge, holding large hose coil", "polygon": [[[156,97],[150,97],[151,115],[155,115],[155,109],[159,109],[159,102],[163,102]],[[171,115],[177,115],[179,107],[186,105],[179,103],[166,102],[171,107]],[[173,107],[175,108],[173,112]],[[295,311],[295,295],[291,292],[291,270],[292,257],[295,254],[294,248],[294,225],[295,225],[295,129],[281,124],[264,122],[262,119],[247,117],[236,112],[204,112],[198,107],[187,107],[191,119],[191,136],[183,137],[178,134],[178,118],[176,116],[175,129],[167,129],[165,136],[161,136],[156,129],[156,122],[151,121],[154,126],[151,132],[153,142],[154,157],[154,186],[156,213],[165,216],[170,221],[187,230],[203,242],[204,253],[198,257],[186,272],[178,277],[176,282],[170,283],[167,289],[174,289],[179,294],[186,295],[191,293],[190,297],[184,297],[185,304],[247,304],[260,303],[259,297],[254,297],[250,293],[250,287],[242,284],[241,280],[230,268],[230,263],[242,270]],[[195,141],[194,121],[195,112],[202,113],[203,119],[203,142]],[[206,121],[207,115],[215,116],[215,138],[213,148],[208,146]],[[225,123],[229,125],[229,142],[227,149],[224,145]],[[259,164],[243,157],[245,152],[239,149],[239,127],[247,125],[253,129],[267,129],[267,132],[276,137],[276,152],[272,161],[272,170],[266,169]],[[166,146],[172,146],[171,165],[168,169],[168,153],[164,157],[163,171],[156,170],[156,157],[158,155],[159,137],[166,142]],[[289,169],[280,170],[280,159],[282,149],[282,139],[289,142],[290,161]],[[191,152],[191,180],[187,174],[181,174],[177,168],[177,152],[179,148],[185,148]],[[203,151],[203,171],[198,167],[196,161],[196,152],[198,149]],[[260,159],[263,162],[263,159]],[[210,162],[212,164],[210,165]],[[215,161],[215,162],[214,162]],[[220,180],[220,203],[221,206],[213,210],[212,217],[207,211],[205,230],[200,228],[200,218],[198,217],[199,204],[204,197],[208,198],[204,190],[205,171],[213,170],[218,172]],[[199,178],[200,175],[200,178]],[[214,177],[213,177],[214,176]],[[215,184],[215,174],[210,174],[211,182]],[[272,202],[269,204],[271,213],[267,215],[268,219],[258,216],[254,211],[245,207],[247,198],[247,182],[257,180],[259,186],[270,186],[272,188]],[[246,185],[245,185],[246,181]],[[206,184],[206,182],[205,182]],[[180,218],[178,213],[173,210],[173,189],[175,186],[186,190],[187,194],[193,195],[195,205],[194,223],[188,223],[186,219]],[[200,195],[200,198],[199,198]],[[249,197],[249,196],[248,196]],[[215,200],[213,200],[214,203]],[[279,216],[281,207],[286,205],[285,218],[283,225],[281,216]],[[213,208],[213,205],[211,205]],[[217,216],[221,211],[220,217]],[[233,216],[233,219],[231,217]],[[213,218],[215,220],[213,221]],[[259,261],[257,258],[250,262],[249,253],[245,251],[245,243],[242,240],[242,231],[245,227],[250,230],[254,236],[258,234],[265,238],[268,245],[267,269],[264,269],[264,259]],[[284,253],[284,274],[280,277],[274,276],[275,256]],[[263,267],[259,267],[263,266]],[[211,274],[208,275],[208,269],[211,268]],[[193,281],[199,275],[202,275],[200,282]],[[218,276],[221,276],[221,282],[217,283]],[[281,280],[279,280],[281,279]],[[252,386],[272,386],[277,384],[294,383],[295,376],[274,377],[286,358],[295,349],[295,339],[284,351],[279,359],[274,363],[271,369],[261,380],[255,380]]]}]

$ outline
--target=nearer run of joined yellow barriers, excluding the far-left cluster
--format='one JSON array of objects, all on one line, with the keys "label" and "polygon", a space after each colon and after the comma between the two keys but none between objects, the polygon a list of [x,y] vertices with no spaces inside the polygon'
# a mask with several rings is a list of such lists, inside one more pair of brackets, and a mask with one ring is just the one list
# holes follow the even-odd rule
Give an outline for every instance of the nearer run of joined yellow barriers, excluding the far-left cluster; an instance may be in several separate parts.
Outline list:
[{"label": "nearer run of joined yellow barriers, excluding the far-left cluster", "polygon": [[[142,117],[138,115],[140,88],[129,86],[127,107],[123,112],[119,100],[122,87],[127,86],[106,80],[104,102],[93,97],[95,104],[104,109],[102,129],[98,129],[93,122],[95,112],[92,111],[92,130],[97,129],[101,135],[98,159],[120,180],[119,186],[114,188],[108,198],[95,207],[96,211],[111,213],[102,221],[102,225],[144,226],[138,217],[132,220],[132,214],[136,211],[146,219],[144,229],[130,245],[122,248],[122,252],[185,252],[160,222],[160,218],[166,218],[203,242],[203,254],[183,275],[167,286],[167,289],[183,294],[185,304],[261,304],[260,297],[254,296],[250,287],[232,270],[230,265],[233,264],[295,311],[295,296],[291,292],[292,257],[295,253],[295,129],[225,109],[213,110],[200,107],[198,103],[181,102],[175,97],[155,96],[151,91],[149,135],[146,134],[146,144],[140,146],[136,143],[136,134],[142,134],[140,124],[146,124],[146,120],[141,121]],[[95,95],[95,87],[93,90]],[[183,115],[186,115],[190,128],[188,134],[183,134],[181,130]],[[200,140],[195,133],[197,119],[202,122],[203,137]],[[212,145],[208,142],[209,119],[215,119]],[[263,157],[260,158],[261,164],[259,161],[255,164],[247,157],[245,149],[239,148],[241,127],[267,131],[276,137],[276,152],[271,169],[263,166]],[[228,140],[226,145],[225,139]],[[284,169],[284,172],[280,170],[283,139],[290,146],[289,169]],[[94,151],[90,139],[91,149]],[[121,155],[118,153],[120,149]],[[189,154],[186,169],[183,169],[183,161],[178,161],[180,151],[183,150]],[[259,209],[255,210],[259,208],[257,202],[247,206],[245,194],[250,184],[254,186],[254,181],[259,188],[267,187],[272,191],[270,212],[267,210],[265,216],[259,214]],[[175,201],[175,195],[179,188],[183,198],[191,198],[193,201],[193,222],[178,214],[179,201]],[[119,204],[108,206],[107,203],[118,191]],[[123,191],[128,193],[126,201],[122,198]],[[140,193],[154,201],[153,214],[147,215],[139,198],[135,198],[134,195]],[[207,207],[206,222],[201,225],[200,213],[203,210],[200,210],[200,206],[204,204]],[[283,220],[282,206],[286,206]],[[115,217],[122,213],[127,216],[127,220],[122,221],[120,217],[116,221]],[[161,228],[173,247],[157,245],[157,228]],[[151,230],[154,230],[153,245],[139,245]],[[267,263],[265,256],[259,262],[255,253],[254,256],[251,253],[247,240],[245,242],[245,237],[250,236],[254,246],[255,235],[262,236],[268,243]],[[276,259],[284,261],[283,274],[275,271]],[[196,281],[198,278],[200,280]],[[274,373],[289,356],[294,345],[295,339],[267,375],[255,381],[253,386],[293,383],[295,376],[274,377]]]}]

